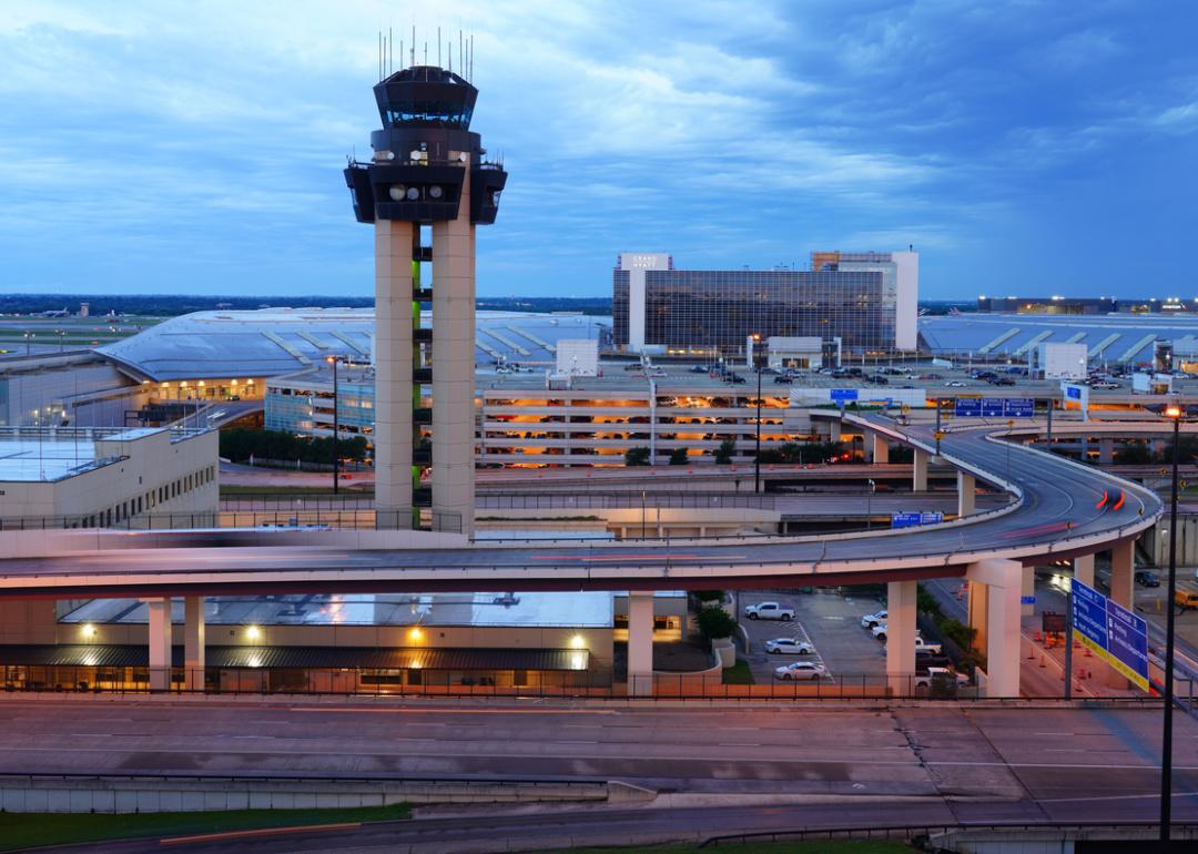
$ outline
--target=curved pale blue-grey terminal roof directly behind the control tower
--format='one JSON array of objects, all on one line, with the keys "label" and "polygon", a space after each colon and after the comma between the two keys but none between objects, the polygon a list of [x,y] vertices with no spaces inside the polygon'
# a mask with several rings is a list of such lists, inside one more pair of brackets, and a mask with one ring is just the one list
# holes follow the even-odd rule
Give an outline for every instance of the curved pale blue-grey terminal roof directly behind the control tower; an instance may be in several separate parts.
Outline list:
[{"label": "curved pale blue-grey terminal roof directly behind the control tower", "polygon": [[[374,309],[266,308],[196,311],[97,347],[139,380],[279,376],[337,353],[367,359]],[[479,311],[474,358],[551,363],[562,338],[598,338],[609,317]],[[431,325],[429,313],[424,325]]]}]

